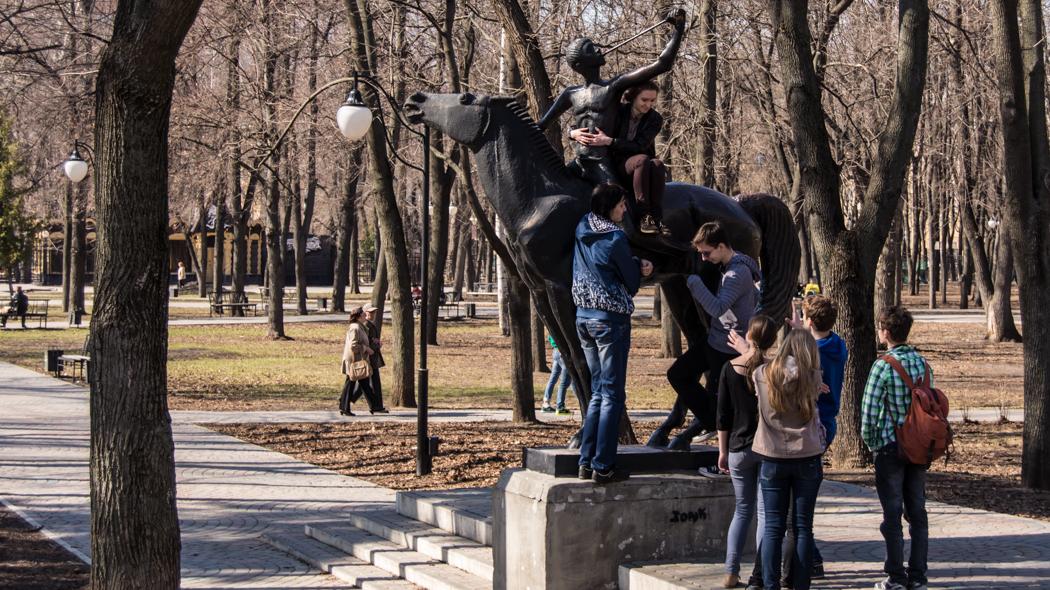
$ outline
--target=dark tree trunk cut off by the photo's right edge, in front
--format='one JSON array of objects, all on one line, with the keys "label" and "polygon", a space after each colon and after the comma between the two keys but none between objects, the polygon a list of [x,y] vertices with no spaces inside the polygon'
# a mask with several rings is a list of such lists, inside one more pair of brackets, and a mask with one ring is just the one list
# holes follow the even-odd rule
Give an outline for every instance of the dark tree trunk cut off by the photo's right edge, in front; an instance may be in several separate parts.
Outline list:
[{"label": "dark tree trunk cut off by the photo's right edge, in front", "polygon": [[990,7],[1006,172],[1003,225],[1017,270],[1025,332],[1035,336],[1025,338],[1021,480],[1028,487],[1050,489],[1050,368],[1046,362],[1050,358],[1050,339],[1046,338],[1050,330],[1050,305],[1046,304],[1050,292],[1050,187],[1046,184],[1050,148],[1043,15],[1037,0],[1023,0],[1018,31],[1016,0],[994,0]]}]

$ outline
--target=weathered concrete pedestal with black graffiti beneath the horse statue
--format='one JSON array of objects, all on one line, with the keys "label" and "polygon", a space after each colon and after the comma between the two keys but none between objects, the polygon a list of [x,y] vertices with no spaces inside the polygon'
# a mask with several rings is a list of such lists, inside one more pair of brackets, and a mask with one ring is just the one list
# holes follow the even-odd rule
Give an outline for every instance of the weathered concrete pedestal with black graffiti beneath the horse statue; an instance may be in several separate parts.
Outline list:
[{"label": "weathered concrete pedestal with black graffiti beneath the horse statue", "polygon": [[492,586],[615,589],[621,564],[722,560],[734,507],[728,478],[695,471],[601,486],[507,469],[492,497]]}]

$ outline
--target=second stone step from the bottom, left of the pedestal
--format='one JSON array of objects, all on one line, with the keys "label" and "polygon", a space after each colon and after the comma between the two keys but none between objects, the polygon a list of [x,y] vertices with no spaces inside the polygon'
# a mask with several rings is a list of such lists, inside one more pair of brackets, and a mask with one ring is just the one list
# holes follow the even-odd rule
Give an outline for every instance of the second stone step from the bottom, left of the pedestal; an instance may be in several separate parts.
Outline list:
[{"label": "second stone step from the bottom, left of the pedestal", "polygon": [[307,536],[427,590],[491,590],[492,583],[342,522],[306,525]]}]

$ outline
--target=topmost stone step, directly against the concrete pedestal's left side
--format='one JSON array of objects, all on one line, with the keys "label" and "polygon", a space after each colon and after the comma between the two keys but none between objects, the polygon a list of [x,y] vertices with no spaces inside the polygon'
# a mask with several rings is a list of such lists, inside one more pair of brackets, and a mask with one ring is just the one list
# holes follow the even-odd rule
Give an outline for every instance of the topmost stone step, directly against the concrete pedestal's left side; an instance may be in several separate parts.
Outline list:
[{"label": "topmost stone step, directly against the concrete pedestal's left side", "polygon": [[492,489],[397,492],[397,511],[482,545],[492,544]]}]

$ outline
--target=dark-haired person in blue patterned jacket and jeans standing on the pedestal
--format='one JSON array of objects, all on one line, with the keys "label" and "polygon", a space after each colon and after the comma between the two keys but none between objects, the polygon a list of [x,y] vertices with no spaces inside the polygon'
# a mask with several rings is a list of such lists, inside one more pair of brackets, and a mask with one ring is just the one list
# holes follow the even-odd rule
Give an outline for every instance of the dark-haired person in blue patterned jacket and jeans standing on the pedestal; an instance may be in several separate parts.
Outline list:
[{"label": "dark-haired person in blue patterned jacket and jeans standing on the pedestal", "polygon": [[572,301],[576,333],[591,374],[591,398],[580,444],[580,479],[609,483],[627,479],[615,468],[620,418],[627,401],[627,355],[631,314],[642,278],[652,262],[631,254],[617,224],[627,210],[618,185],[601,184],[591,193],[591,212],[576,225],[572,256]]}]

